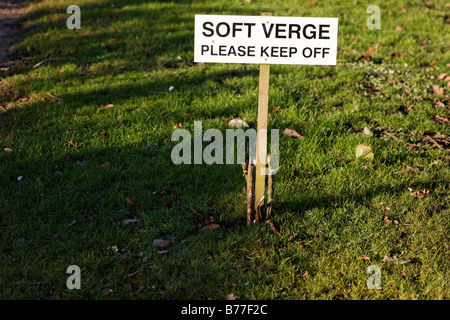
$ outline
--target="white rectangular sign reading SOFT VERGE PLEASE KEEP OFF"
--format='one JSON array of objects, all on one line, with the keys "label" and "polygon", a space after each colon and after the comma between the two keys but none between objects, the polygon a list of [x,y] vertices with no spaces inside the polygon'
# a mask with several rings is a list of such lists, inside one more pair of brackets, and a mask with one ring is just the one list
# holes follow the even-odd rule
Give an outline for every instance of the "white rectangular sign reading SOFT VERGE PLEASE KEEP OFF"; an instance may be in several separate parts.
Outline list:
[{"label": "white rectangular sign reading SOFT VERGE PLEASE KEEP OFF", "polygon": [[195,15],[194,61],[336,65],[338,19]]}]

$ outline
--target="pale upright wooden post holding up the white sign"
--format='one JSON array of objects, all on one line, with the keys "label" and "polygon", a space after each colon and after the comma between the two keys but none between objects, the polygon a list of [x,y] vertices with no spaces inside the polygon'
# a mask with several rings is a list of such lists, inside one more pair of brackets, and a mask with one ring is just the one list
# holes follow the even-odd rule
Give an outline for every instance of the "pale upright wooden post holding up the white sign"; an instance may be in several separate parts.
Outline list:
[{"label": "pale upright wooden post holding up the white sign", "polygon": [[[262,13],[271,16],[272,13]],[[265,162],[267,155],[267,113],[269,111],[269,75],[270,64],[259,66],[258,123],[256,137],[256,170],[255,170],[255,215],[256,221],[261,218],[261,208],[264,206],[266,176]]]}]

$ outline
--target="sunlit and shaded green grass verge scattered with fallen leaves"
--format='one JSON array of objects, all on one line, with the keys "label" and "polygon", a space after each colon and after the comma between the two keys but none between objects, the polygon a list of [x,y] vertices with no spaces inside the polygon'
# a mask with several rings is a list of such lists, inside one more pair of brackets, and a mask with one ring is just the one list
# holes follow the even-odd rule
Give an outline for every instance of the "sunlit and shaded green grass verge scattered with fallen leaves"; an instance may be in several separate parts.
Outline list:
[{"label": "sunlit and shaded green grass verge scattered with fallen leaves", "polygon": [[[436,80],[450,74],[450,8],[433,3],[383,2],[370,30],[370,1],[80,0],[82,29],[68,30],[73,3],[33,1],[18,44],[29,58],[0,78],[0,298],[449,299],[450,130],[435,116],[450,114],[448,81]],[[280,137],[280,235],[245,225],[240,165],[170,158],[174,124],[256,126],[258,66],[193,64],[194,14],[265,11],[339,18],[336,66],[271,67],[269,105],[281,110],[269,128],[304,136]],[[361,143],[372,162],[355,158]],[[411,181],[429,194],[411,196]],[[141,223],[121,225],[131,218]],[[210,221],[221,227],[200,230]],[[383,262],[394,255],[410,262]],[[73,264],[81,290],[66,288]],[[370,265],[381,290],[366,287]]]}]

